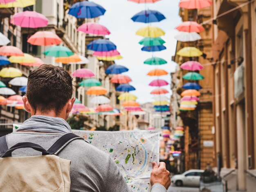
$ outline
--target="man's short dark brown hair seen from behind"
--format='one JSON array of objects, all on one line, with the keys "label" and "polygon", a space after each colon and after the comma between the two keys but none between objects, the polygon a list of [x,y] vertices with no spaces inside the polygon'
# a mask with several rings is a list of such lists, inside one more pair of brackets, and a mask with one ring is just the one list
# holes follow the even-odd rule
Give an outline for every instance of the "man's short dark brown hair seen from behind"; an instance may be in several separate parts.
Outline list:
[{"label": "man's short dark brown hair seen from behind", "polygon": [[54,110],[58,115],[72,92],[72,77],[62,67],[44,64],[29,74],[27,99],[35,112]]}]

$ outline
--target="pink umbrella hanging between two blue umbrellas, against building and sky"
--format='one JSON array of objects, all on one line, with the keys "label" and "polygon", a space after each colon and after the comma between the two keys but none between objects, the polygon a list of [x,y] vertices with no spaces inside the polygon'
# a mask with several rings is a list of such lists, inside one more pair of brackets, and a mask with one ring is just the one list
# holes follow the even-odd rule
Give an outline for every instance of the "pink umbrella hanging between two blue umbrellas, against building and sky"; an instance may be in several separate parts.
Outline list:
[{"label": "pink umbrella hanging between two blue umbrellas, against building and sky", "polygon": [[94,35],[109,35],[110,31],[103,25],[95,22],[88,22],[77,28],[77,31],[82,31],[86,34]]}]

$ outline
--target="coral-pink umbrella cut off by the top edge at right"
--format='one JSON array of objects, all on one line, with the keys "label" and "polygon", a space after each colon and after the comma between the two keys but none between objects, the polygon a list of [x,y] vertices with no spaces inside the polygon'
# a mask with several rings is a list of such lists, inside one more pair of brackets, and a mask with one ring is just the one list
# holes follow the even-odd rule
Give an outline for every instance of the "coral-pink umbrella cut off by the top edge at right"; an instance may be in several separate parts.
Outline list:
[{"label": "coral-pink umbrella cut off by the top edge at right", "polygon": [[180,0],[179,6],[184,9],[203,9],[211,7],[211,0]]}]

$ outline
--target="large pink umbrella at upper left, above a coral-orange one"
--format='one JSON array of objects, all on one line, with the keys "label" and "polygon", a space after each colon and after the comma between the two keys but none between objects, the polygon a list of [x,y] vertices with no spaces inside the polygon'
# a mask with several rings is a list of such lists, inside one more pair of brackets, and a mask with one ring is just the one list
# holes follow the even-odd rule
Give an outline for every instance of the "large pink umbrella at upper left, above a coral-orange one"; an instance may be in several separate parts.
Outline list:
[{"label": "large pink umbrella at upper left, above a coral-orange one", "polygon": [[46,27],[49,20],[36,11],[23,11],[13,16],[13,24],[20,27],[38,28]]}]

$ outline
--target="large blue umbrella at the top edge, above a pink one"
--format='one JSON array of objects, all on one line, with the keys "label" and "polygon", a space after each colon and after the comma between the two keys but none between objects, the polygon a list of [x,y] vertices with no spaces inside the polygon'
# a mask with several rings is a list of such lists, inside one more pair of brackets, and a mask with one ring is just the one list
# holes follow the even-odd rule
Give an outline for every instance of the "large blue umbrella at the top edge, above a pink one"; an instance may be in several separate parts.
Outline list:
[{"label": "large blue umbrella at the top edge, above a pink one", "polygon": [[76,18],[96,18],[104,15],[105,9],[99,4],[90,1],[82,1],[73,4],[68,14]]}]

